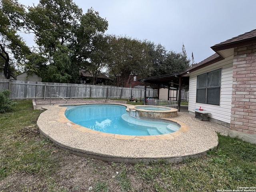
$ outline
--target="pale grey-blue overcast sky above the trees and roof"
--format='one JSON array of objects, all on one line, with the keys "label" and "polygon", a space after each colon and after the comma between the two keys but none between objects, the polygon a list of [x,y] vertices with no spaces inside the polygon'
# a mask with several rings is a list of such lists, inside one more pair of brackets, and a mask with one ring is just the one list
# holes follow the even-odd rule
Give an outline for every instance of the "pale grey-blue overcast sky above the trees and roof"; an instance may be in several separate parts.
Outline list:
[{"label": "pale grey-blue overcast sky above the trees and roof", "polygon": [[[38,0],[18,0],[24,5]],[[107,34],[160,43],[196,63],[222,41],[256,29],[256,0],[73,0],[83,12],[92,7],[108,21]],[[28,44],[31,38],[25,39]]]}]

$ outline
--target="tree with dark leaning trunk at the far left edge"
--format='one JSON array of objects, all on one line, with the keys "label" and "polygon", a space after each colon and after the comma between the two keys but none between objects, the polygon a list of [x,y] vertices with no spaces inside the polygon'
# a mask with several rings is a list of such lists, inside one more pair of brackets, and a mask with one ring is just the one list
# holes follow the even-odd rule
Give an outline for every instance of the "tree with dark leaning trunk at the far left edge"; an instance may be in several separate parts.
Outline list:
[{"label": "tree with dark leaning trunk at the far left edge", "polygon": [[4,75],[7,79],[12,73],[10,63],[22,63],[26,60],[26,55],[30,54],[28,46],[17,33],[17,30],[23,27],[17,15],[23,16],[24,12],[24,6],[18,1],[1,0],[0,57],[4,61]]}]

